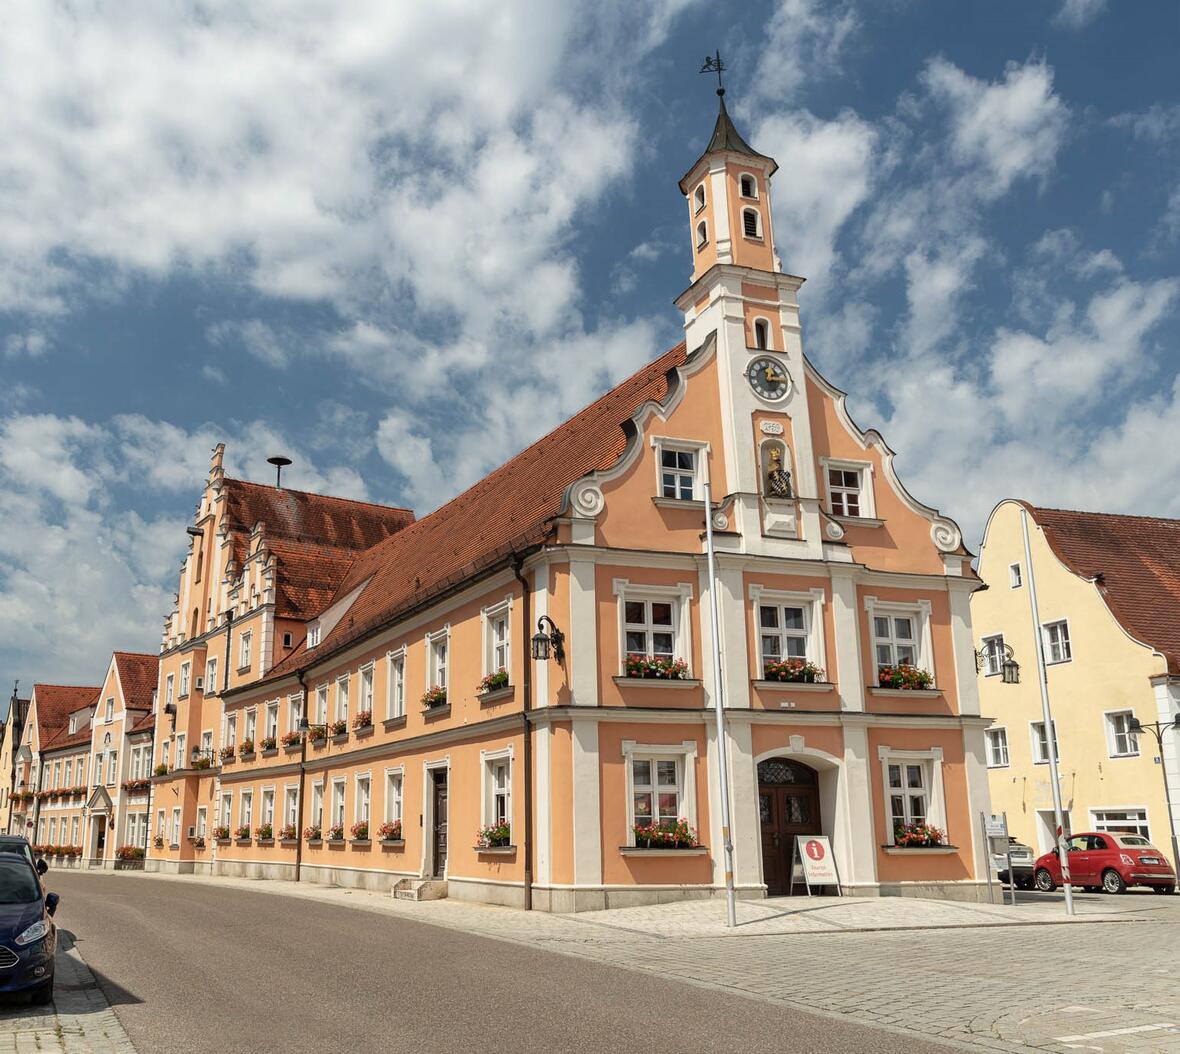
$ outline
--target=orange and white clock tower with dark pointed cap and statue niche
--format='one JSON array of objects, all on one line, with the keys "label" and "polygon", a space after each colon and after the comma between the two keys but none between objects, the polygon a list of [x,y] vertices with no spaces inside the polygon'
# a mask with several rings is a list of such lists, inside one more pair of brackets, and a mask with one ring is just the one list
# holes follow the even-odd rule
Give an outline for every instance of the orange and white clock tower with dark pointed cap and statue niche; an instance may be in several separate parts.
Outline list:
[{"label": "orange and white clock tower with dark pointed cap and statue niche", "polygon": [[[773,157],[739,133],[717,89],[716,124],[680,181],[693,244],[691,284],[676,300],[688,348],[716,334],[726,479],[739,551],[825,558],[798,292],[774,247]],[[775,466],[772,470],[772,465]],[[767,480],[792,480],[789,500]],[[838,528],[833,529],[838,530]]]}]

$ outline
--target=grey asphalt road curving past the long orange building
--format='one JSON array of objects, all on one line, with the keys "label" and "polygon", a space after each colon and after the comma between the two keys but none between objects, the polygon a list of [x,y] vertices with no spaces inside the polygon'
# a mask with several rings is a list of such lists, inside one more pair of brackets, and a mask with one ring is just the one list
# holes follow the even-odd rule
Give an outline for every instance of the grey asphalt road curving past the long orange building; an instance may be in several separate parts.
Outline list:
[{"label": "grey asphalt road curving past the long orange building", "polygon": [[58,925],[140,1054],[948,1049],[356,909],[119,875],[50,878]]}]

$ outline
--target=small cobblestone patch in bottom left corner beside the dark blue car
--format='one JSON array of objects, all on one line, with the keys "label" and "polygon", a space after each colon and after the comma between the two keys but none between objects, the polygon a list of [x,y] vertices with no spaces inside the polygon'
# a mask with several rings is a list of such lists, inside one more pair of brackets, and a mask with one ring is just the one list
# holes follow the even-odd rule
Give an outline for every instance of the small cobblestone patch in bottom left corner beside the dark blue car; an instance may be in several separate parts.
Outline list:
[{"label": "small cobblestone patch in bottom left corner beside the dark blue car", "polygon": [[0,1054],[136,1054],[94,975],[65,930],[59,930],[53,1006],[25,996],[0,1003]]}]

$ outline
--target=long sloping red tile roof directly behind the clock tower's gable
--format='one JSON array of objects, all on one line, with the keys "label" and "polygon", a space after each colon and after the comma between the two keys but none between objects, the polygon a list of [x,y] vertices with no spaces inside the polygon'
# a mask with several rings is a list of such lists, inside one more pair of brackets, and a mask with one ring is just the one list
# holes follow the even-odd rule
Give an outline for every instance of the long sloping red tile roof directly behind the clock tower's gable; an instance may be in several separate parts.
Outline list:
[{"label": "long sloping red tile roof directly behind the clock tower's gable", "polygon": [[[316,647],[315,661],[402,617],[514,551],[539,544],[562,512],[566,487],[622,457],[631,415],[648,400],[667,398],[669,374],[686,358],[684,345],[678,345],[649,362],[442,508],[358,556],[335,598],[367,584],[348,614]],[[275,666],[267,680],[307,665],[308,654],[301,644]]]}]

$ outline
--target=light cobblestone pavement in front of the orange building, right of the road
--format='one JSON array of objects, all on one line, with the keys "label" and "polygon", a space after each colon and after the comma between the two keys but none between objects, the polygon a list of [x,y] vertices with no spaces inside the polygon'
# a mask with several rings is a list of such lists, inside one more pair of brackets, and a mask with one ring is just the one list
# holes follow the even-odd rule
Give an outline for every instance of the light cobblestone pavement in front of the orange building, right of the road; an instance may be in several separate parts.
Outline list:
[{"label": "light cobblestone pavement in front of the orange building, right of the road", "polygon": [[284,882],[127,880],[347,903],[970,1049],[1180,1054],[1180,897],[1083,895],[1074,922],[1038,895],[1017,908],[776,899],[739,904],[729,931],[719,901],[555,916]]}]

